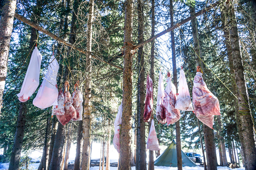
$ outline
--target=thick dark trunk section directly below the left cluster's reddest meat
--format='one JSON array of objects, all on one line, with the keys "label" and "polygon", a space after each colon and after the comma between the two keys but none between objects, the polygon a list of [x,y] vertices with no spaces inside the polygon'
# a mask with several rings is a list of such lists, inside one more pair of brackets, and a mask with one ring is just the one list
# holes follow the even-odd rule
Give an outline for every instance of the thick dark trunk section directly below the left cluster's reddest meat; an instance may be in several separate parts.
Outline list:
[{"label": "thick dark trunk section directly below the left cluster's reddest meat", "polygon": [[64,145],[64,131],[65,126],[58,123],[58,129],[54,140],[53,153],[49,170],[56,170],[61,168],[62,151]]}]

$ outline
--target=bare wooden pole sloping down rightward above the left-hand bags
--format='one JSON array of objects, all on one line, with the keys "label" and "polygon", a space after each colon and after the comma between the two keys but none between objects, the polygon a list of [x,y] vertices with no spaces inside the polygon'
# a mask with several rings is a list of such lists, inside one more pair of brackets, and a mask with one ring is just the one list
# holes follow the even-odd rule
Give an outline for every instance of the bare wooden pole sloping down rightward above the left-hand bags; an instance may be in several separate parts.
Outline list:
[{"label": "bare wooden pole sloping down rightward above the left-hand bags", "polygon": [[[71,48],[73,48],[73,49],[75,49],[75,50],[77,50],[77,51],[79,51],[79,52],[81,52],[81,53],[83,53],[83,54],[86,54],[86,50],[74,46],[73,44],[69,43],[68,41],[65,41],[64,39],[58,37],[57,35],[55,35],[55,34],[49,32],[48,30],[46,30],[46,29],[40,27],[39,25],[33,23],[32,21],[28,20],[27,18],[25,18],[25,17],[23,17],[23,16],[21,16],[21,15],[19,15],[19,14],[17,14],[17,13],[14,14],[14,17],[15,17],[16,19],[18,19],[18,20],[20,20],[20,21],[22,21],[22,22],[28,24],[29,26],[31,26],[31,27],[37,29],[38,31],[40,31],[40,32],[42,32],[42,33],[44,33],[44,34],[46,34],[46,35],[52,37],[53,39],[59,41],[60,43],[63,43],[63,44],[65,44],[66,46],[69,46],[69,47],[71,47]],[[117,65],[115,65],[115,64],[113,64],[113,63],[110,63],[110,62],[108,62],[108,61],[106,61],[106,60],[97,58],[97,57],[95,57],[94,55],[92,55],[92,57],[95,58],[96,60],[99,60],[99,61],[101,61],[101,62],[104,62],[104,63],[106,63],[106,64],[108,64],[108,65],[110,65],[110,66],[116,67],[116,68],[118,68],[118,69],[120,69],[120,70],[124,70],[124,68],[122,68],[122,67],[120,67],[120,66],[117,66]]]}]

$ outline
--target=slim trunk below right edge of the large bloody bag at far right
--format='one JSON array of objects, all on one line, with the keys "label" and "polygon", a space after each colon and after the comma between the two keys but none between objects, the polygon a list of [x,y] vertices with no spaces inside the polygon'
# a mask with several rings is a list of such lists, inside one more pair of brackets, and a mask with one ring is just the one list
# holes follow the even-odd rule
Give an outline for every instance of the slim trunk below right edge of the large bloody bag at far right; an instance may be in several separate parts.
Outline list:
[{"label": "slim trunk below right edge of the large bloody bag at far right", "polygon": [[217,122],[219,126],[219,142],[221,145],[221,151],[222,151],[222,160],[223,160],[223,166],[227,167],[228,166],[228,161],[227,161],[227,155],[226,155],[226,148],[225,148],[225,141],[223,137],[223,128],[222,128],[222,122],[221,122],[221,116],[217,116]]}]

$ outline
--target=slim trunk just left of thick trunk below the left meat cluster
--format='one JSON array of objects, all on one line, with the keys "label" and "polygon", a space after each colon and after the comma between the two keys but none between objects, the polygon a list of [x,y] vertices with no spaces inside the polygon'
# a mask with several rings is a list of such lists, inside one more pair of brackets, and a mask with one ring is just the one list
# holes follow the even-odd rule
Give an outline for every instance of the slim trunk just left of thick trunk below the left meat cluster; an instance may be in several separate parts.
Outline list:
[{"label": "slim trunk just left of thick trunk below the left meat cluster", "polygon": [[56,116],[53,117],[52,119],[52,129],[51,129],[51,140],[50,140],[50,147],[49,147],[49,158],[48,158],[48,166],[47,166],[47,170],[49,170],[50,168],[50,164],[51,164],[51,160],[52,160],[52,154],[53,154],[53,146],[54,146],[54,141],[55,141],[55,136],[56,136],[56,132],[57,132],[57,126],[58,126],[58,120],[56,118]]}]

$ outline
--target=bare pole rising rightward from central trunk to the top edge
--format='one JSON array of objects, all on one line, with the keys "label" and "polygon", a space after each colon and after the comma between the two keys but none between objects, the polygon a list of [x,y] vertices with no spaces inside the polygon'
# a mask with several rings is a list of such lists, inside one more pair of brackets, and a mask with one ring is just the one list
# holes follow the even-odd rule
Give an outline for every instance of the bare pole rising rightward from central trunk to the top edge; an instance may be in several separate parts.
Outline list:
[{"label": "bare pole rising rightward from central trunk to the top edge", "polygon": [[147,44],[147,43],[153,41],[154,39],[156,39],[156,38],[158,38],[158,37],[160,37],[160,36],[162,36],[162,35],[164,35],[164,34],[170,32],[170,31],[174,30],[175,28],[178,28],[179,26],[181,26],[182,24],[184,24],[184,23],[190,21],[191,19],[194,19],[194,18],[198,17],[199,15],[202,15],[203,13],[209,11],[211,8],[217,6],[217,5],[220,4],[221,2],[222,2],[222,0],[219,0],[219,1],[217,1],[217,2],[215,2],[215,3],[213,3],[213,4],[211,4],[211,5],[209,5],[209,6],[207,6],[207,7],[205,7],[203,10],[201,10],[201,11],[195,13],[194,16],[187,17],[186,19],[184,19],[184,20],[182,20],[181,22],[175,24],[174,26],[172,26],[172,27],[170,27],[170,28],[168,28],[168,29],[166,29],[166,30],[164,30],[164,31],[162,31],[162,32],[160,32],[160,33],[158,33],[158,34],[156,34],[155,36],[153,36],[153,37],[151,37],[151,38],[149,38],[149,39],[147,39],[147,40],[145,40],[145,41],[143,41],[143,42],[137,44],[136,46],[134,46],[134,48],[137,49],[137,48],[139,48],[139,47],[141,47],[141,46],[143,46],[143,45],[145,45],[145,44]]}]

